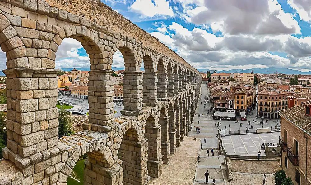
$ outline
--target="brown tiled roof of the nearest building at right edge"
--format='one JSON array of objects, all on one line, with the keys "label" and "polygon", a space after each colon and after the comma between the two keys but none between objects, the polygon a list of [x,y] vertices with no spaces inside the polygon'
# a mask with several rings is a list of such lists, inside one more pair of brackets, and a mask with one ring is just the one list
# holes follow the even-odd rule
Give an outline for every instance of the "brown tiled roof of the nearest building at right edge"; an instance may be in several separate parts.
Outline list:
[{"label": "brown tiled roof of the nearest building at right edge", "polygon": [[303,105],[279,110],[279,113],[302,130],[311,134],[311,116],[306,115],[305,104],[311,104],[311,101],[305,102]]}]

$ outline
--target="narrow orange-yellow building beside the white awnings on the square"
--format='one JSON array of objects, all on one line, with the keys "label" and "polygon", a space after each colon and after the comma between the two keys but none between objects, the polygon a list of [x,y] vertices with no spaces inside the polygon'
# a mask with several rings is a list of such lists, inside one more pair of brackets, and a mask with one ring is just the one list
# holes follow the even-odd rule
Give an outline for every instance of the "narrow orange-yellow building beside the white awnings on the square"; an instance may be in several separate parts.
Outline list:
[{"label": "narrow orange-yellow building beside the white awnings on the square", "polygon": [[254,99],[253,90],[239,90],[235,92],[235,112],[240,115],[240,112],[248,112],[253,110]]}]

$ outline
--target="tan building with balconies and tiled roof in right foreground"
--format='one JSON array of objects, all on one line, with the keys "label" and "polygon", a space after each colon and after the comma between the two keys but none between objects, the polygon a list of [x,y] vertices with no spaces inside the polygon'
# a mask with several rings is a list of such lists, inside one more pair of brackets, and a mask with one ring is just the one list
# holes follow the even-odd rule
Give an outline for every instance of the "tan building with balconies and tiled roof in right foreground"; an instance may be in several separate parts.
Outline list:
[{"label": "tan building with balconies and tiled roof in right foreground", "polygon": [[278,111],[281,116],[281,168],[294,185],[311,184],[311,101]]}]

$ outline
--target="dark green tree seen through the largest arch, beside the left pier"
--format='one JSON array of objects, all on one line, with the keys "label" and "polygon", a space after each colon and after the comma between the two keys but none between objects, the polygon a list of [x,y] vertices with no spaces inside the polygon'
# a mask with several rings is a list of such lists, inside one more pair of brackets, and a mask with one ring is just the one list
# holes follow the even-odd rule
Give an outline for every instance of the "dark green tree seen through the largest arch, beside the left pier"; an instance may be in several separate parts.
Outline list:
[{"label": "dark green tree seen through the largest arch, beside the left pier", "polygon": [[60,137],[69,136],[74,134],[70,125],[70,113],[64,110],[62,107],[58,112],[58,134]]}]

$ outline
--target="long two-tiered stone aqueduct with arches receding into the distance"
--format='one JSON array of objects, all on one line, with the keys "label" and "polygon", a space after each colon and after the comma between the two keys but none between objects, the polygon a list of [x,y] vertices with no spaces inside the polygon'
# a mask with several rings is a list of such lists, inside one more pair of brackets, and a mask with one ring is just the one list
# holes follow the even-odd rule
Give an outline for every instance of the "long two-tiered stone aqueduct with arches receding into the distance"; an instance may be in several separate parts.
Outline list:
[{"label": "long two-tiered stone aqueduct with arches receding into the distance", "polygon": [[[66,37],[89,55],[90,109],[82,132],[59,139],[54,61]],[[0,0],[0,46],[8,109],[0,184],[64,185],[83,154],[86,185],[148,184],[188,135],[201,74],[100,1]],[[124,110],[115,121],[117,50],[125,63]]]}]

